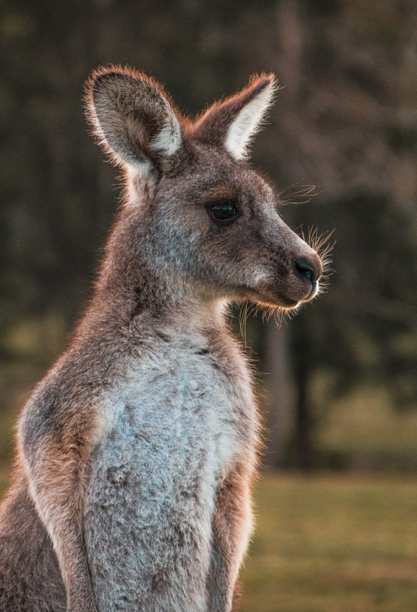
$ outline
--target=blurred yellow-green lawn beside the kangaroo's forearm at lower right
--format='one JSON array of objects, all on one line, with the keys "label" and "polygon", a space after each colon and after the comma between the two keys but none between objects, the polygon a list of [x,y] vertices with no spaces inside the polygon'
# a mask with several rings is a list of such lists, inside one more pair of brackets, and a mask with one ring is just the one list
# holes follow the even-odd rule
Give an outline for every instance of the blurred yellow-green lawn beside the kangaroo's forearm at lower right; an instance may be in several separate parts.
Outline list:
[{"label": "blurred yellow-green lawn beside the kangaroo's forearm at lower right", "polygon": [[268,475],[242,612],[415,612],[417,482]]}]

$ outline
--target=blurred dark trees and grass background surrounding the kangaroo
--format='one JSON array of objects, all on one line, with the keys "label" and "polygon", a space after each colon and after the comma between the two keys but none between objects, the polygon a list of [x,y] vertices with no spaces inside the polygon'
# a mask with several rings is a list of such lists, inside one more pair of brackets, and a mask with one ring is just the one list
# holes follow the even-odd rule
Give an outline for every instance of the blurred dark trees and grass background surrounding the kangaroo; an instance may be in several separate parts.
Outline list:
[{"label": "blurred dark trees and grass background surrounding the kangaroo", "polygon": [[415,0],[2,0],[0,20],[3,485],[17,411],[65,347],[117,207],[83,116],[90,71],[144,70],[189,114],[272,71],[252,160],[294,230],[333,231],[334,273],[281,327],[246,321],[269,469],[243,609],[415,610]]}]

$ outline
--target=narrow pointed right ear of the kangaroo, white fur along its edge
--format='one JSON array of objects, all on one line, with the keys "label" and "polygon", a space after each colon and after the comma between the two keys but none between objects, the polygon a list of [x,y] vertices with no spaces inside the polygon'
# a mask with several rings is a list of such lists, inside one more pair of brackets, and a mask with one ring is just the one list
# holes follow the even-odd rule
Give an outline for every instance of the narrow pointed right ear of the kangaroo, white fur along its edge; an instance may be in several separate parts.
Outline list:
[{"label": "narrow pointed right ear of the kangaroo, white fur along its edge", "polygon": [[194,124],[198,140],[214,146],[223,144],[237,159],[248,157],[248,146],[273,102],[274,75],[254,75],[246,89],[223,102],[216,102]]}]

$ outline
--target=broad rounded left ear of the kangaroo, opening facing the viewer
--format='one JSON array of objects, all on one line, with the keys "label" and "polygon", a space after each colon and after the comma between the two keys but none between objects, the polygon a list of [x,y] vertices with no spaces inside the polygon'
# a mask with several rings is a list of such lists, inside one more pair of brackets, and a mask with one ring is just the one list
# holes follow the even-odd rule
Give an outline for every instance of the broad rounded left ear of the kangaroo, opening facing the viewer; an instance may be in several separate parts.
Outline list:
[{"label": "broad rounded left ear of the kangaroo, opening facing the viewer", "polygon": [[86,85],[87,118],[113,162],[148,173],[181,146],[180,122],[163,88],[121,67],[97,70]]}]

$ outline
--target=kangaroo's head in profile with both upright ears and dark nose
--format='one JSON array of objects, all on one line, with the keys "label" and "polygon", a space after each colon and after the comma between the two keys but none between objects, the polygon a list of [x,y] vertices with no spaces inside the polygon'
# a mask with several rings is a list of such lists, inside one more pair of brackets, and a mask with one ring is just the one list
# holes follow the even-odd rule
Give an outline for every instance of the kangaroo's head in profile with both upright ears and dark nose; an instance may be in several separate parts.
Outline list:
[{"label": "kangaroo's head in profile with both upright ears and dark nose", "polygon": [[246,161],[274,93],[273,75],[253,77],[192,121],[142,73],[94,73],[89,119],[127,187],[120,223],[130,229],[110,241],[109,267],[136,262],[204,299],[294,308],[317,294],[319,255],[282,221],[274,188]]}]

